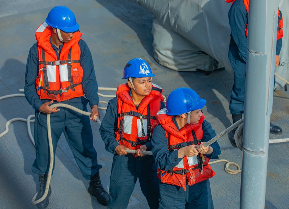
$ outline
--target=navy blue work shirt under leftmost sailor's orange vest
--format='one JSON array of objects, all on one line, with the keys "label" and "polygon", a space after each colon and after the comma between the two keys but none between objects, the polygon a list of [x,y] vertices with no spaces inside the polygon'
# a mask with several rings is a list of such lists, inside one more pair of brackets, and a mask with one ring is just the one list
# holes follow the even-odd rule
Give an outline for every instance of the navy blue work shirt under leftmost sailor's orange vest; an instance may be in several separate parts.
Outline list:
[{"label": "navy blue work shirt under leftmost sailor's orange vest", "polygon": [[[51,39],[50,39],[51,43]],[[82,89],[89,102],[89,106],[92,108],[94,105],[98,105],[99,97],[97,95],[98,87],[95,77],[95,71],[93,66],[93,60],[91,52],[82,39],[78,41],[80,47],[80,66],[83,68],[82,77]],[[51,43],[51,47],[54,49],[57,59],[59,59],[59,54],[61,52],[63,45],[60,45],[58,49],[54,44]],[[38,74],[38,44],[35,43],[29,51],[26,72],[25,72],[25,87],[24,93],[27,101],[32,105],[32,108],[39,110],[40,106],[51,101],[48,99],[40,99],[37,92],[35,81]]]}]

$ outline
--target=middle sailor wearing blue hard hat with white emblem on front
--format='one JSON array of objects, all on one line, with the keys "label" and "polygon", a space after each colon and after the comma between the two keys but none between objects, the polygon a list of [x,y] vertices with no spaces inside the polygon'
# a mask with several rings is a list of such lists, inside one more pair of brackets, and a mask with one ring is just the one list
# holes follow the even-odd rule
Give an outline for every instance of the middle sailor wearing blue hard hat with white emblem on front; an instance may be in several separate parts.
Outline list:
[{"label": "middle sailor wearing blue hard hat with white emblem on front", "polygon": [[[151,209],[159,205],[159,178],[151,150],[151,127],[157,112],[165,107],[162,88],[152,83],[150,66],[140,58],[130,60],[124,68],[123,79],[116,97],[108,102],[100,126],[105,149],[114,154],[111,168],[107,208],[125,209],[139,179],[141,191]],[[126,150],[136,150],[136,154]]]}]

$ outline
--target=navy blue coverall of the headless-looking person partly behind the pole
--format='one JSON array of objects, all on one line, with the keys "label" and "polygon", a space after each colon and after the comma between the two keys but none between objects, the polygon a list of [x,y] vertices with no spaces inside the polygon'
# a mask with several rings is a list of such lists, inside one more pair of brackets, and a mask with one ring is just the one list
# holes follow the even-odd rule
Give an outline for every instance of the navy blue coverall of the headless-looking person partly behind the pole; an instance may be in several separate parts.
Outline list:
[{"label": "navy blue coverall of the headless-looking person partly behind the pole", "polygon": [[[231,27],[228,58],[234,70],[234,85],[229,109],[231,114],[240,115],[244,113],[247,62],[247,37],[245,35],[245,29],[248,23],[248,13],[244,1],[236,0],[230,8],[228,16]],[[276,55],[280,54],[281,47],[282,39],[278,39]]]}]

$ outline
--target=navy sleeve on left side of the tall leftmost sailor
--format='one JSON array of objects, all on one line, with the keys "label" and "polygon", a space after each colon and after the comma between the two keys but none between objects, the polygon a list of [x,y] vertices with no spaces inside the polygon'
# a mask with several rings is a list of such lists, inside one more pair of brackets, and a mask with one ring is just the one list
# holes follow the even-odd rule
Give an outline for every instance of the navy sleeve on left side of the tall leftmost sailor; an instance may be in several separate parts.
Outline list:
[{"label": "navy sleeve on left side of the tall leftmost sailor", "polygon": [[38,45],[35,43],[29,51],[26,63],[24,94],[32,108],[39,110],[43,102],[36,92],[35,81],[38,74]]}]

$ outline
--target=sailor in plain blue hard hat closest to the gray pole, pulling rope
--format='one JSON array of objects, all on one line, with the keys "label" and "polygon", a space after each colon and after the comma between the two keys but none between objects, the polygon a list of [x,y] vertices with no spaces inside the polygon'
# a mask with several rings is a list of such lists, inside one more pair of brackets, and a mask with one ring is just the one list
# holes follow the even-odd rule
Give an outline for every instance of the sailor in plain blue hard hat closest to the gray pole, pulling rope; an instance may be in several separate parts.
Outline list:
[{"label": "sailor in plain blue hard hat closest to the gray pole, pulling rope", "polygon": [[213,209],[209,178],[215,172],[209,159],[221,154],[216,136],[201,111],[205,99],[190,88],[177,88],[167,97],[166,108],[153,125],[152,155],[161,179],[159,209]]}]

